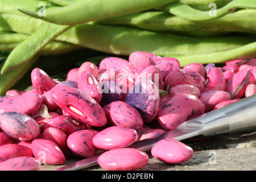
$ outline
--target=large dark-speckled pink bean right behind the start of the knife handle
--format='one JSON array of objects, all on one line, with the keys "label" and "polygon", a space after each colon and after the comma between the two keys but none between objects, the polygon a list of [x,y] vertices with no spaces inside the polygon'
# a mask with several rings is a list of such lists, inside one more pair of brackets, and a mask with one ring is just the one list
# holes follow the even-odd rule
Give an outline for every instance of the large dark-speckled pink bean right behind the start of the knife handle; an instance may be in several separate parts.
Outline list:
[{"label": "large dark-speckled pink bean right behind the start of the knife handle", "polygon": [[162,102],[156,118],[162,129],[172,130],[188,119],[201,115],[203,112],[204,104],[198,97],[181,93]]}]

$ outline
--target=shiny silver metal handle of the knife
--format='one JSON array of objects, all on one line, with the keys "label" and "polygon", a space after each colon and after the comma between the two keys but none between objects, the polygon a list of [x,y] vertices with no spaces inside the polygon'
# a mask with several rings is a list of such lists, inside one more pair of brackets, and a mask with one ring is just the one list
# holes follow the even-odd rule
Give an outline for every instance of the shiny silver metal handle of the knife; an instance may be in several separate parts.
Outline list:
[{"label": "shiny silver metal handle of the knife", "polygon": [[203,123],[204,137],[256,130],[256,94],[192,120]]}]

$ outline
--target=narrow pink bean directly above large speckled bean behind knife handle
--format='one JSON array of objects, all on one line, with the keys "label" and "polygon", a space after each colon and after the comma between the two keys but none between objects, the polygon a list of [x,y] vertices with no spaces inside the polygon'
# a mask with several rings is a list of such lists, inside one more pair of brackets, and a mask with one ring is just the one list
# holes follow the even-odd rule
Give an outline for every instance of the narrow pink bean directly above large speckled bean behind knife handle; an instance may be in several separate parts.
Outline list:
[{"label": "narrow pink bean directly above large speckled bean behind knife handle", "polygon": [[182,84],[182,85],[172,86],[169,89],[169,94],[171,97],[179,93],[189,93],[189,94],[195,95],[196,97],[200,96],[199,88],[197,88],[194,85]]}]

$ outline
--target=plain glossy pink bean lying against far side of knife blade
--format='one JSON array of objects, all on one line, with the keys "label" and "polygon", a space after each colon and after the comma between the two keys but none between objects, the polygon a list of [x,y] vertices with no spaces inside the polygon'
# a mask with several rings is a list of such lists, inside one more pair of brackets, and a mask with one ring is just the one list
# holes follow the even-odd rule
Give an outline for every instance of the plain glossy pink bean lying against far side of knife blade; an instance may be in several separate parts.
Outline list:
[{"label": "plain glossy pink bean lying against far side of knife blade", "polygon": [[138,134],[134,129],[110,126],[93,137],[93,144],[102,150],[128,147],[135,142]]}]

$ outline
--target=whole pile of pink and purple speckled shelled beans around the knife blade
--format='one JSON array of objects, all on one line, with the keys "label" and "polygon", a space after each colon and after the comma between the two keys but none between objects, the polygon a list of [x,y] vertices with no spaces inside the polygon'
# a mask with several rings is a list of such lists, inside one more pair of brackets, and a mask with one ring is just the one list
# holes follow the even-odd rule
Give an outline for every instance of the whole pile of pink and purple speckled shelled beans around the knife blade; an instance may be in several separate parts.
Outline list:
[{"label": "whole pile of pink and purple speckled shelled beans around the knife blade", "polygon": [[0,170],[40,170],[98,152],[103,169],[137,170],[148,152],[168,164],[191,159],[193,149],[175,139],[146,152],[129,146],[255,94],[256,59],[181,68],[173,57],[137,51],[129,60],[86,61],[65,81],[35,68],[31,82],[34,89],[0,98]]}]

